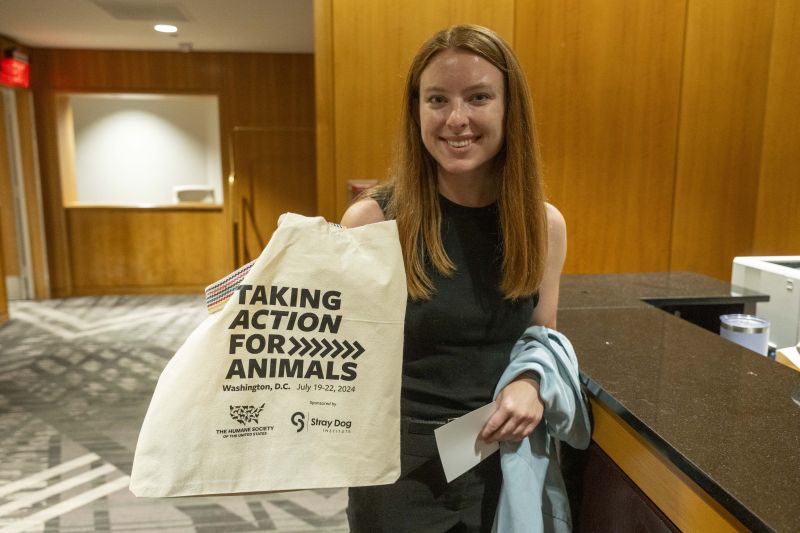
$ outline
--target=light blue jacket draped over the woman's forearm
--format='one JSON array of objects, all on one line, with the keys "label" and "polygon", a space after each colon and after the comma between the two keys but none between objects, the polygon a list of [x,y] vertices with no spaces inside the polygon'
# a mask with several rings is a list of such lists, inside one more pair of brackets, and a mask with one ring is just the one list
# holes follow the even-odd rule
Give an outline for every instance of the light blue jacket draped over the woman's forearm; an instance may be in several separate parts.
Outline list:
[{"label": "light blue jacket draped over the woman's forearm", "polygon": [[500,443],[503,486],[493,531],[572,531],[555,439],[581,449],[591,440],[589,413],[572,344],[557,331],[529,327],[511,351],[511,362],[500,377],[495,397],[523,372],[540,377],[544,417],[527,439]]}]

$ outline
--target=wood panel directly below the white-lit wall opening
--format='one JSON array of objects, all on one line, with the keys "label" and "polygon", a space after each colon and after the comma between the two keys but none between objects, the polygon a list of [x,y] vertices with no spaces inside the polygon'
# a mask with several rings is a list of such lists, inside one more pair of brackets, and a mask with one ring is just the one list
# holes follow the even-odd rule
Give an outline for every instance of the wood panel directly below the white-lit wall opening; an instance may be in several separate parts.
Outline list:
[{"label": "wood panel directly below the white-lit wall opening", "polygon": [[226,275],[217,210],[69,208],[74,294],[201,292]]}]

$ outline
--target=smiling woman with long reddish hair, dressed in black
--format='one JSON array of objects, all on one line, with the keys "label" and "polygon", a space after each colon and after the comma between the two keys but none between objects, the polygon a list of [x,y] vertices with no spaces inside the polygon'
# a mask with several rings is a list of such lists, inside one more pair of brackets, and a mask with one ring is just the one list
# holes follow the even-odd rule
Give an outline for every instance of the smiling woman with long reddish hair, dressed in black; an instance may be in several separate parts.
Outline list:
[{"label": "smiling woman with long reddish hair, dressed in black", "polygon": [[[346,227],[389,218],[400,231],[409,300],[402,475],[350,490],[352,531],[487,531],[497,454],[447,484],[433,429],[492,400],[514,342],[555,328],[564,219],[546,204],[524,74],[494,32],[455,26],[428,40],[405,89],[392,179],[353,204]],[[534,375],[497,397],[488,442],[527,437],[542,418]]]}]

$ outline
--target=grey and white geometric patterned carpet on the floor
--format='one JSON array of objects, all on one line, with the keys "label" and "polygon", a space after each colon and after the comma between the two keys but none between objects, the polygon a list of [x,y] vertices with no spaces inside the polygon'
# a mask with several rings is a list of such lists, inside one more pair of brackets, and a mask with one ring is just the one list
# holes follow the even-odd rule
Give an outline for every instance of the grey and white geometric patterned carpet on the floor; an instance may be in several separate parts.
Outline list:
[{"label": "grey and white geometric patterned carpet on the floor", "polygon": [[128,476],[194,296],[12,302],[0,326],[0,533],[347,531],[345,489],[139,499]]}]

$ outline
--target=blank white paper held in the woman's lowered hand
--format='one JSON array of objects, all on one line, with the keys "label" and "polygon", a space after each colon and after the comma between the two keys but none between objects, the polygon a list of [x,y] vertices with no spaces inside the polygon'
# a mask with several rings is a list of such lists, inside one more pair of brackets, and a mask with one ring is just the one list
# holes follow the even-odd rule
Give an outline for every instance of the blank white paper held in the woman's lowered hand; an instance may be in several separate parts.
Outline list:
[{"label": "blank white paper held in the woman's lowered hand", "polygon": [[494,410],[492,402],[434,430],[448,483],[500,448],[497,442],[487,443],[478,437]]}]

